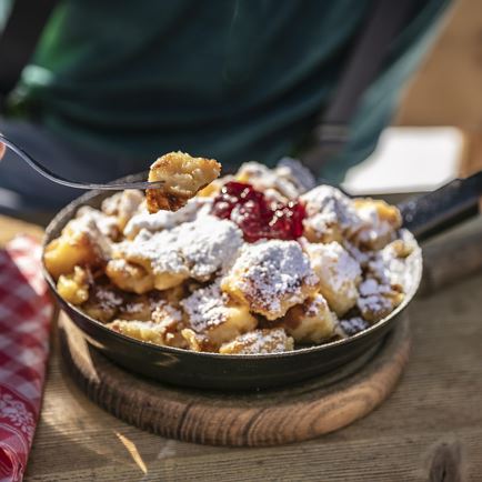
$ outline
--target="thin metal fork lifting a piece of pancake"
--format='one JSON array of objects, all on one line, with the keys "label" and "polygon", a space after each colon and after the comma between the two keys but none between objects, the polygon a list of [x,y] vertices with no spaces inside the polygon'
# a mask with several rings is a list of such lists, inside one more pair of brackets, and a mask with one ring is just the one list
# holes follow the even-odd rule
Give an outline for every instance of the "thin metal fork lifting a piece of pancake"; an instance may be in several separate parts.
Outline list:
[{"label": "thin metal fork lifting a piece of pancake", "polygon": [[57,182],[58,184],[68,185],[69,188],[74,189],[98,189],[104,191],[121,191],[123,189],[159,189],[163,185],[164,181],[135,181],[135,182],[112,182],[112,183],[94,183],[94,182],[74,182],[69,181],[68,179],[62,178],[59,174],[53,173],[44,165],[42,165],[39,161],[33,159],[28,152],[26,152],[22,148],[17,145],[10,139],[7,139],[3,134],[0,133],[0,142],[10,148],[19,158],[26,161],[32,169],[34,169],[39,174],[49,179],[52,182]]}]

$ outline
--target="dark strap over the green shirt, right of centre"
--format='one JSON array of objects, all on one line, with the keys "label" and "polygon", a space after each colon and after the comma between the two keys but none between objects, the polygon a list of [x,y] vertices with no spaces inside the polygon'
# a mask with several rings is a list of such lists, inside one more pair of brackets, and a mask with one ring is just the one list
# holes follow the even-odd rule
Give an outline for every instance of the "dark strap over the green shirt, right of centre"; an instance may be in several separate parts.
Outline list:
[{"label": "dark strap over the green shirt, right of centre", "polygon": [[365,89],[380,72],[391,41],[412,18],[418,0],[374,0],[369,19],[344,67],[334,96],[313,129],[302,161],[317,171],[348,140],[348,125]]}]

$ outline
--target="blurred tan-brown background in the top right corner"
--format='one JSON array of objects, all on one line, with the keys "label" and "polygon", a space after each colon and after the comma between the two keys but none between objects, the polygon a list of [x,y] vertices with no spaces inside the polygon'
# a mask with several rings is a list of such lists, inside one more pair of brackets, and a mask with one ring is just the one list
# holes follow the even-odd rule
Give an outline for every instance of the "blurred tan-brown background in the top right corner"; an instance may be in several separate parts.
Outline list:
[{"label": "blurred tan-brown background in the top right corner", "polygon": [[406,88],[395,125],[455,125],[482,132],[482,2],[458,0]]}]

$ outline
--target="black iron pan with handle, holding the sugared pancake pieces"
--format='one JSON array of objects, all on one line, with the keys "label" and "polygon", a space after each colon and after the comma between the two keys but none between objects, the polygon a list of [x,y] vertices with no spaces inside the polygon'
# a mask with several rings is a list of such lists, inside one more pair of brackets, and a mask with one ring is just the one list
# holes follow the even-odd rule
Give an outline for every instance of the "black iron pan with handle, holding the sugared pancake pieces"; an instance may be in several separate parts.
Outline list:
[{"label": "black iron pan with handle, holding the sugared pancake pieces", "polygon": [[[139,179],[141,174],[130,177]],[[80,205],[99,208],[110,193],[90,191],[60,211],[50,222],[43,243],[60,234]],[[482,195],[482,172],[464,180],[454,180],[441,189],[409,200],[399,208],[409,229],[418,241],[424,240],[478,213]],[[413,299],[422,275],[422,253],[415,250],[409,258],[410,277],[405,300],[389,317],[357,333],[331,343],[302,348],[292,352],[261,355],[221,355],[158,347],[124,337],[106,328],[64,301],[56,283],[43,268],[44,277],[60,307],[80,328],[87,341],[109,359],[132,372],[177,385],[219,389],[253,390],[287,385],[329,372],[355,359],[374,347],[393,328],[401,312]]]}]

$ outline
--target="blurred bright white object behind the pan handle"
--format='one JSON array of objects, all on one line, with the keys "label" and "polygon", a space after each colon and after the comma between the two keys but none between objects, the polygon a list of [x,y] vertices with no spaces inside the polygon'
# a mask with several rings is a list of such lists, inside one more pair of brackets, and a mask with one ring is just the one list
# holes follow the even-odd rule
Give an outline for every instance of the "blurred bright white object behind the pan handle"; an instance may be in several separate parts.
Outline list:
[{"label": "blurred bright white object behind the pan handle", "polygon": [[433,191],[458,175],[463,134],[456,128],[388,128],[376,150],[351,168],[351,194]]}]

